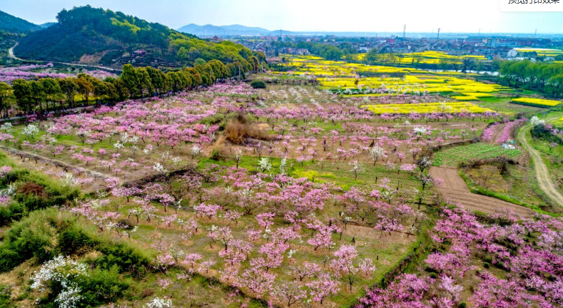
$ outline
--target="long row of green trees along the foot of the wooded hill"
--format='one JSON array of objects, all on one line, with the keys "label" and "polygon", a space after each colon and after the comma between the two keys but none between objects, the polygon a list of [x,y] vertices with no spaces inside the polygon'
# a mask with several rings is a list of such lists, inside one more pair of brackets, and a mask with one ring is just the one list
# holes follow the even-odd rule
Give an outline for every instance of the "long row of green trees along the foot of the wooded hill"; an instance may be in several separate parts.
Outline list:
[{"label": "long row of green trees along the foot of the wooded hill", "polygon": [[182,91],[186,88],[211,86],[216,81],[257,72],[262,64],[255,56],[241,63],[235,61],[225,65],[211,60],[193,68],[165,73],[150,66],[134,68],[131,64],[123,66],[118,78],[101,80],[87,74],[76,77],[41,78],[37,81],[17,79],[9,86],[0,83],[0,114],[6,116],[10,108],[16,106],[29,113],[56,108],[73,108],[77,98],[88,104],[93,96],[97,101],[123,101],[163,94],[168,91]]}]

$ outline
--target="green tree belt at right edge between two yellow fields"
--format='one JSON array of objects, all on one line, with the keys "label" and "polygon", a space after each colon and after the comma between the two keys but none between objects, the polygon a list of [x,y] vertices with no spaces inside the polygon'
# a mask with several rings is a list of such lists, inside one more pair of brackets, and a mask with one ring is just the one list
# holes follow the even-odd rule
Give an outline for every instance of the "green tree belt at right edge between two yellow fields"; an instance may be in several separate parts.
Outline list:
[{"label": "green tree belt at right edge between two yellow fields", "polygon": [[563,64],[531,61],[504,61],[500,79],[507,86],[527,88],[555,97],[563,96]]}]

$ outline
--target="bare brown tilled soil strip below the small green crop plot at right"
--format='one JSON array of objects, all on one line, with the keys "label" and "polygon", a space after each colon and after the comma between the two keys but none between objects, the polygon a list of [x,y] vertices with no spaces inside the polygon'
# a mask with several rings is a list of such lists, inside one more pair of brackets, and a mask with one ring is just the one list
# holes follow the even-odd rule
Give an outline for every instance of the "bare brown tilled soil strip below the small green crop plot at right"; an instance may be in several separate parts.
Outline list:
[{"label": "bare brown tilled soil strip below the small green crop plot at right", "polygon": [[457,173],[457,169],[432,167],[430,168],[430,174],[444,180],[444,183],[438,186],[438,190],[440,190],[442,197],[448,203],[460,204],[470,210],[478,210],[487,214],[512,210],[518,215],[531,217],[534,213],[534,211],[527,207],[515,205],[514,203],[502,201],[494,197],[471,193],[465,181]]}]

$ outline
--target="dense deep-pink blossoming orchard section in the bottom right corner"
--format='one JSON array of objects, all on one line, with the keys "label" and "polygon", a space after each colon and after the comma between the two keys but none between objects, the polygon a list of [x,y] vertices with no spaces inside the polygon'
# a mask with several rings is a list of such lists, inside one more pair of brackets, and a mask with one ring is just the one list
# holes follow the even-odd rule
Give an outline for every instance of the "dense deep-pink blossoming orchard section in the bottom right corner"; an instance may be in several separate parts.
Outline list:
[{"label": "dense deep-pink blossoming orchard section in the bottom right corner", "polygon": [[437,249],[425,260],[427,274],[402,274],[356,307],[560,307],[561,221],[511,213],[488,221],[442,210],[430,231]]}]

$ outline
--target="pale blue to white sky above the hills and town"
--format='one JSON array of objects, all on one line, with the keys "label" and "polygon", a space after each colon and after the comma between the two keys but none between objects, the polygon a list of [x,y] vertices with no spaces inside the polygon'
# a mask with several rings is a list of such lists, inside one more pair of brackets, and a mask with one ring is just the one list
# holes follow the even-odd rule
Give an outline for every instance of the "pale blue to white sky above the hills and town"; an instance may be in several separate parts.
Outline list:
[{"label": "pale blue to white sky above the hills and town", "polygon": [[563,12],[502,12],[507,0],[0,0],[0,10],[34,24],[90,4],[178,29],[242,24],[269,30],[563,34]]}]

